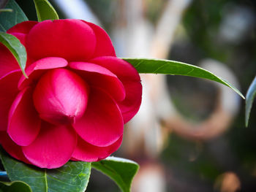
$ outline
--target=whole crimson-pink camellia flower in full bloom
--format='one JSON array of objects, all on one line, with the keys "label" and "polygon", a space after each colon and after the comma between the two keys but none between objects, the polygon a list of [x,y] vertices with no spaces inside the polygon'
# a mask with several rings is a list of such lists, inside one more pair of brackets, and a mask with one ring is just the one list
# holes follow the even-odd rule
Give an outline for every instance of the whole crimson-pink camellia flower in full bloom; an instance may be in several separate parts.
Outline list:
[{"label": "whole crimson-pink camellia flower in full bloom", "polygon": [[53,169],[99,161],[121,145],[138,112],[136,69],[108,34],[83,20],[26,21],[7,31],[26,47],[26,79],[0,44],[0,144],[20,161]]}]

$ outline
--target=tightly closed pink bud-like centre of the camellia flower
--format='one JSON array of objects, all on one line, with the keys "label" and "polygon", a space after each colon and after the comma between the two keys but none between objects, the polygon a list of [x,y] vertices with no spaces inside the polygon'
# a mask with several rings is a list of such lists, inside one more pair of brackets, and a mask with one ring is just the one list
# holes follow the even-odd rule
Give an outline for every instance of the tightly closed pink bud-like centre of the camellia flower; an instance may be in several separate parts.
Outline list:
[{"label": "tightly closed pink bud-like centre of the camellia flower", "polygon": [[53,69],[34,89],[34,106],[40,118],[54,124],[73,123],[86,110],[89,87],[78,74]]}]

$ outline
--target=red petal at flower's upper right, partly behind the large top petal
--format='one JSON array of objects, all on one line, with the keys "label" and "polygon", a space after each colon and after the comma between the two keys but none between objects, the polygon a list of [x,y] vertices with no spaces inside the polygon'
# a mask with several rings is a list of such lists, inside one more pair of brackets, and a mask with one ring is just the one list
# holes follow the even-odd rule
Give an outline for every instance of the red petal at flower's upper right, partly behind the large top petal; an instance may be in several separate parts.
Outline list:
[{"label": "red petal at flower's upper right, partly behind the large top petal", "polygon": [[116,56],[115,49],[106,31],[94,23],[84,22],[94,30],[94,34],[96,36],[96,48],[92,58],[99,56]]}]

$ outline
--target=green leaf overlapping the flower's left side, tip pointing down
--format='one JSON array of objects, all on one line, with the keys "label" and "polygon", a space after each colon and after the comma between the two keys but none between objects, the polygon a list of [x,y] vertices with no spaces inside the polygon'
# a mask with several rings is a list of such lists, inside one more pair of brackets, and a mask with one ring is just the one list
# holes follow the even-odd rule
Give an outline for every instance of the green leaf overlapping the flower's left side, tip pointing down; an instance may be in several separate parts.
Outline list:
[{"label": "green leaf overlapping the flower's left side, tip pointing down", "polygon": [[28,78],[25,73],[26,48],[20,43],[20,40],[11,34],[0,32],[0,42],[10,50],[12,55],[14,55],[24,76]]}]

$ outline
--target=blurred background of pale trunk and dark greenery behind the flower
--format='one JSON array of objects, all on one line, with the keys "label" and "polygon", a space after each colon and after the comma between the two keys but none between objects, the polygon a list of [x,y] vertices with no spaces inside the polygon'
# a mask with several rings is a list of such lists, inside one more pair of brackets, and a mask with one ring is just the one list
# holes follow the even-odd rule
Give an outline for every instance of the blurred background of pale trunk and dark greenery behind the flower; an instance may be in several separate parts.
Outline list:
[{"label": "blurred background of pale trunk and dark greenery behind the flower", "polygon": [[[17,0],[30,20],[33,1]],[[51,0],[60,18],[97,23],[118,57],[202,66],[245,95],[256,74],[254,0]],[[127,124],[119,157],[140,164],[133,192],[256,191],[256,104],[192,77],[142,74],[143,103]],[[87,191],[119,191],[93,170]]]}]

